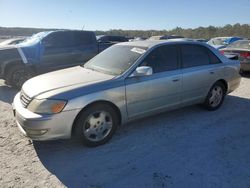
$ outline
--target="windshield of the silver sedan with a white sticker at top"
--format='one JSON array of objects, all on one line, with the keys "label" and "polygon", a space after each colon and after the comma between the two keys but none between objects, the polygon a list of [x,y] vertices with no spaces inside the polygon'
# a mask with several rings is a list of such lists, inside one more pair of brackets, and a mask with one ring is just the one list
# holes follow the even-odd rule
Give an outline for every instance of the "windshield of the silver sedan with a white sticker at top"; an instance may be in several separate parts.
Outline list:
[{"label": "windshield of the silver sedan with a white sticker at top", "polygon": [[111,75],[120,75],[145,52],[145,47],[114,45],[89,60],[84,68]]}]

